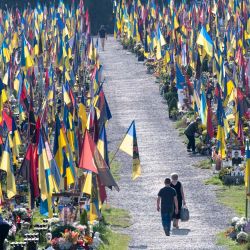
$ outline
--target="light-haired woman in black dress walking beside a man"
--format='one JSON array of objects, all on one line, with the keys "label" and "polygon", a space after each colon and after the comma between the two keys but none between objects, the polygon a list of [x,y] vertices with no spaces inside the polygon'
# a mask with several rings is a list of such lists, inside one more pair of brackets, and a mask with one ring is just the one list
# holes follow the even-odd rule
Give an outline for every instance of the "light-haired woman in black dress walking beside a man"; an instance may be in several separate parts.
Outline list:
[{"label": "light-haired woman in black dress walking beside a man", "polygon": [[172,173],[171,174],[171,184],[170,187],[174,188],[177,194],[177,200],[178,200],[178,213],[173,214],[173,227],[179,229],[179,219],[181,216],[181,207],[186,206],[183,186],[181,182],[178,181],[178,174]]}]

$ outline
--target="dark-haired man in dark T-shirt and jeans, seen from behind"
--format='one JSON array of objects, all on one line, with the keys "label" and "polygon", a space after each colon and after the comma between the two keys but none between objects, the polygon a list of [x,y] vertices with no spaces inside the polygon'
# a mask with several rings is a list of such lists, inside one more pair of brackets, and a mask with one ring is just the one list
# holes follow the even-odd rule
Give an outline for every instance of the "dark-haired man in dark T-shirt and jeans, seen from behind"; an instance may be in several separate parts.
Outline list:
[{"label": "dark-haired man in dark T-shirt and jeans, seen from behind", "polygon": [[159,212],[161,210],[162,226],[166,236],[169,236],[171,229],[171,218],[174,212],[176,214],[178,213],[178,200],[175,189],[170,187],[170,178],[166,178],[164,183],[165,187],[162,188],[158,193],[157,211]]}]

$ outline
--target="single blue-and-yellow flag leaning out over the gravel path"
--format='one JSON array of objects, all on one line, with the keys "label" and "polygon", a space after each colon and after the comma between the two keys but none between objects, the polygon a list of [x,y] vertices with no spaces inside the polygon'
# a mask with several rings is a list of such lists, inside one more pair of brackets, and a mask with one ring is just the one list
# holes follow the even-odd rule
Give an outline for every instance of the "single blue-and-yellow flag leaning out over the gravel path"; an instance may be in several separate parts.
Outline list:
[{"label": "single blue-and-yellow flag leaning out over the gravel path", "polygon": [[133,157],[132,179],[135,180],[141,175],[141,164],[138,151],[135,121],[132,121],[129,129],[120,145],[120,150]]}]

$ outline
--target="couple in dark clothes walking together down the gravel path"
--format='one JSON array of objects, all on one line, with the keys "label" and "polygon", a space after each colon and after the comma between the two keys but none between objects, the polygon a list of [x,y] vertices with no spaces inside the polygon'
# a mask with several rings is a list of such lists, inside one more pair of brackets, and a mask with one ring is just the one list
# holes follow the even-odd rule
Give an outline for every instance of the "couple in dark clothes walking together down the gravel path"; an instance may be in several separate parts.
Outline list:
[{"label": "couple in dark clothes walking together down the gravel path", "polygon": [[163,229],[166,236],[170,235],[171,220],[173,227],[179,229],[179,219],[182,205],[186,205],[182,184],[178,181],[178,174],[171,174],[171,179],[165,179],[165,187],[158,193],[157,211],[161,211]]}]

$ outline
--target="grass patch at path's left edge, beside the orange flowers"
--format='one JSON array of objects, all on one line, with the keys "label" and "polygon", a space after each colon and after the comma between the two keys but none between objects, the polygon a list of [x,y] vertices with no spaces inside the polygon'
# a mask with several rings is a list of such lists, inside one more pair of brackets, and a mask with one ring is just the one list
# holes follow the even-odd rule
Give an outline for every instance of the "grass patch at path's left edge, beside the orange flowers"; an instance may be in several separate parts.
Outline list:
[{"label": "grass patch at path's left edge, beside the orange flowers", "polygon": [[[118,230],[131,225],[129,213],[124,209],[104,206],[102,214],[104,221],[95,228],[96,231],[100,232],[103,241],[98,250],[127,250],[130,237],[119,233]],[[114,228],[117,231],[114,231]]]}]

